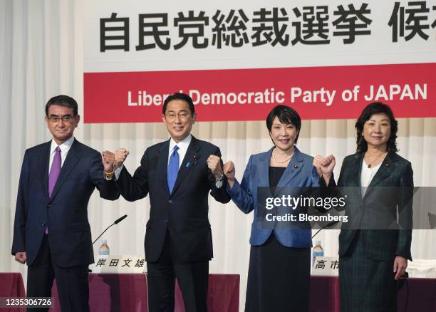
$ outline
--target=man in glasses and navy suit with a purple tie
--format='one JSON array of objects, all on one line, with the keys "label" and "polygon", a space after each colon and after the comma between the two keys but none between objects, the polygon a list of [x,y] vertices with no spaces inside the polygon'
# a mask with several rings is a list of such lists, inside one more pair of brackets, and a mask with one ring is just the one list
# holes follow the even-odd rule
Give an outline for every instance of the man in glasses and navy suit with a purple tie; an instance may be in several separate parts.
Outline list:
[{"label": "man in glasses and navy suit with a purple tie", "polygon": [[66,95],[46,104],[53,140],[24,154],[12,242],[16,261],[28,265],[27,296],[51,296],[56,277],[63,312],[89,311],[88,265],[94,261],[90,195],[97,187],[100,197],[119,197],[105,182],[100,153],[73,137],[80,120],[77,110],[76,100]]}]

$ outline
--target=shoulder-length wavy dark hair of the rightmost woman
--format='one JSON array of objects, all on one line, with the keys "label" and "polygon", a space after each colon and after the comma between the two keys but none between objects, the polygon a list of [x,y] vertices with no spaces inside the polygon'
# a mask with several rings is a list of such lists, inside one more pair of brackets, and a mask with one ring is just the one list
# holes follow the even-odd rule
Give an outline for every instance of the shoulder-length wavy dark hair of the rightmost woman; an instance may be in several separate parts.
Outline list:
[{"label": "shoulder-length wavy dark hair of the rightmost woman", "polygon": [[355,130],[357,130],[357,149],[356,152],[366,152],[368,150],[368,144],[362,135],[363,125],[370,119],[371,115],[374,114],[385,114],[390,120],[390,137],[387,142],[389,152],[398,152],[397,148],[397,131],[398,131],[398,121],[395,119],[392,110],[389,105],[381,102],[373,102],[366,105],[363,108],[362,113],[358,120],[355,122]]}]

